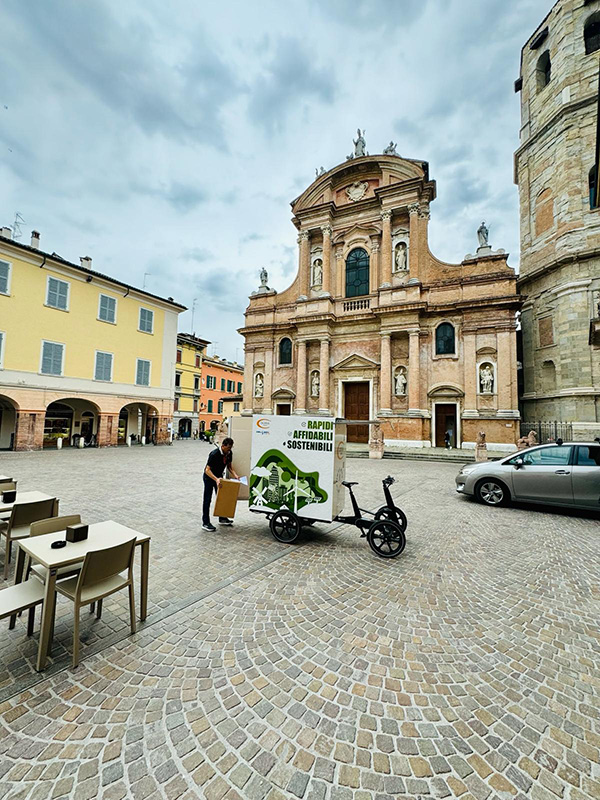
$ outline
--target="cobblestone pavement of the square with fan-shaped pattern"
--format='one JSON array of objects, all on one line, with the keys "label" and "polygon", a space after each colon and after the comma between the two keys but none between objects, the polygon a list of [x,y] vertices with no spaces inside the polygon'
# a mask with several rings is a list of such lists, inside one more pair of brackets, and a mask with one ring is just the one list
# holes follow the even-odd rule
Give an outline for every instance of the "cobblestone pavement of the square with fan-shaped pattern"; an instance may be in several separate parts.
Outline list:
[{"label": "cobblestone pavement of the square with fan-shaped pattern", "polygon": [[488,509],[455,465],[348,462],[409,517],[402,556],[353,528],[298,545],[240,509],[200,531],[208,446],[6,454],[61,512],[152,535],[150,613],[59,600],[54,661],[0,632],[0,797],[391,800],[600,798],[598,538],[591,514]]}]

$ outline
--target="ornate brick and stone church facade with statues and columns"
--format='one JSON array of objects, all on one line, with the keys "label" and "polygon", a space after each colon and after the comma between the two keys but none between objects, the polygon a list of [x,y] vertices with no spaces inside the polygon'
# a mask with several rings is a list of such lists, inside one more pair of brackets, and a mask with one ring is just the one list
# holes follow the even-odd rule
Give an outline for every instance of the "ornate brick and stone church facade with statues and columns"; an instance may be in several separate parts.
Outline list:
[{"label": "ornate brick and stone church facade with statues and columns", "polygon": [[[460,264],[429,251],[435,182],[395,146],[322,170],[292,203],[299,268],[266,271],[246,310],[246,413],[378,419],[388,445],[512,448],[518,433],[516,277],[482,225]],[[350,441],[368,426],[350,425]]]}]

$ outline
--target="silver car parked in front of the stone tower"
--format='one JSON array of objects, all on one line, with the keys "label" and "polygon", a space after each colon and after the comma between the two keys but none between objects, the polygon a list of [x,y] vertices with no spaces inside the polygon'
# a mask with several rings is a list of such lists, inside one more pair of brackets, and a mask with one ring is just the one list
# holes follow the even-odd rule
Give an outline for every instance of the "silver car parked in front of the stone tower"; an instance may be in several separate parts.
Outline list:
[{"label": "silver car parked in front of the stone tower", "polygon": [[600,511],[600,443],[542,444],[498,461],[466,464],[456,476],[456,491],[488,506],[518,500]]}]

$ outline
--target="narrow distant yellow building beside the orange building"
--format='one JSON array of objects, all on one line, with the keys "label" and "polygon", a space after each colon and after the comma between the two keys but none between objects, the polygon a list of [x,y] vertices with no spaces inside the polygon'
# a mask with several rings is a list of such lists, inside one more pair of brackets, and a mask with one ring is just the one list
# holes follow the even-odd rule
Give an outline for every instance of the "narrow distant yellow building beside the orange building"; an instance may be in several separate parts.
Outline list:
[{"label": "narrow distant yellow building beside the orange building", "polygon": [[173,431],[180,439],[189,439],[198,433],[202,356],[209,344],[191,333],[177,334]]}]

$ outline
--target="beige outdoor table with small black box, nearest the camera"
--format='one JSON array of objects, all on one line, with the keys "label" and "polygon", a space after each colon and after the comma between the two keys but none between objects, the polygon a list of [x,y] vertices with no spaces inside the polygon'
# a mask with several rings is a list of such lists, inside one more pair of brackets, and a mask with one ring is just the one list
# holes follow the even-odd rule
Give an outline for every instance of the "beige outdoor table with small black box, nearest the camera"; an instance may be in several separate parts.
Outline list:
[{"label": "beige outdoor table with small black box, nearest the camera", "polygon": [[81,563],[91,550],[102,550],[123,544],[135,537],[136,547],[142,550],[140,570],[140,619],[144,621],[148,610],[148,563],[150,559],[150,537],[146,533],[138,533],[119,522],[108,520],[96,522],[89,526],[88,538],[82,542],[68,542],[66,547],[53,550],[50,545],[64,536],[65,531],[46,533],[42,536],[30,536],[19,539],[19,552],[15,565],[15,583],[23,579],[25,556],[46,567],[46,593],[42,610],[42,623],[36,670],[41,672],[46,666],[48,643],[53,627],[54,608],[56,604],[56,574],[60,567]]}]

